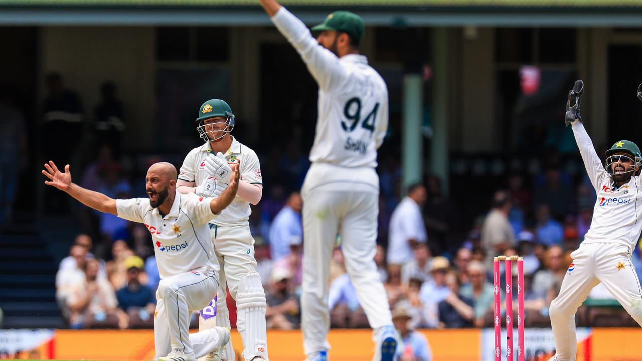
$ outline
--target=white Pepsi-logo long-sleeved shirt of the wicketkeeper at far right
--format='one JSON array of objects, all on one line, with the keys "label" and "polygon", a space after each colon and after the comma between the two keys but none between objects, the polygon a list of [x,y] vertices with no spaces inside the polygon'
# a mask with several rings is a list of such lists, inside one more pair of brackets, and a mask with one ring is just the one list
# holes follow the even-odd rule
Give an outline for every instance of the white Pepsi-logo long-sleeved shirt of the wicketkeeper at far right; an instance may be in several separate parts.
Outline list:
[{"label": "white Pepsi-logo long-sleeved shirt of the wicketkeeper at far right", "polygon": [[596,154],[584,125],[579,121],[573,123],[573,134],[586,172],[598,195],[593,207],[591,228],[584,236],[583,243],[621,243],[635,249],[642,232],[640,177],[631,177],[627,184],[616,187]]}]

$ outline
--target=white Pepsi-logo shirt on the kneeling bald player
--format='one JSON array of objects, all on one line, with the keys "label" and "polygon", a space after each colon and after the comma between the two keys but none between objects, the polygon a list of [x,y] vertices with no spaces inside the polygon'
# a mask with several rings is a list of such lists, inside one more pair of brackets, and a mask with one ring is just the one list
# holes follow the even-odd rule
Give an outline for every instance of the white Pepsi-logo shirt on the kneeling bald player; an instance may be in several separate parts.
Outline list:
[{"label": "white Pepsi-logo shirt on the kneeling bald player", "polygon": [[150,198],[117,199],[118,216],[143,223],[152,233],[160,278],[171,277],[200,267],[218,269],[209,225],[213,217],[212,198],[175,192],[167,215],[150,206]]}]

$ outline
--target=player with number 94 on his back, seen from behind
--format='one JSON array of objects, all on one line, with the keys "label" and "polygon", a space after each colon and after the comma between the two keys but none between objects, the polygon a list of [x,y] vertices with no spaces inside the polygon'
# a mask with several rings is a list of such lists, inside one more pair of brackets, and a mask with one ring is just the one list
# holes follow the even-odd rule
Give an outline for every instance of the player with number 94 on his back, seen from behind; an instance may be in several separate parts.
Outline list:
[{"label": "player with number 94 on his back, seen from behind", "polygon": [[312,166],[302,188],[305,353],[309,361],[327,358],[327,277],[340,233],[347,272],[374,329],[374,360],[392,360],[397,333],[374,263],[379,213],[379,178],[374,169],[388,128],[388,89],[359,54],[363,19],[351,12],[333,12],[313,28],[321,31],[315,39],[277,1],[261,0],[261,4],[319,85]]}]

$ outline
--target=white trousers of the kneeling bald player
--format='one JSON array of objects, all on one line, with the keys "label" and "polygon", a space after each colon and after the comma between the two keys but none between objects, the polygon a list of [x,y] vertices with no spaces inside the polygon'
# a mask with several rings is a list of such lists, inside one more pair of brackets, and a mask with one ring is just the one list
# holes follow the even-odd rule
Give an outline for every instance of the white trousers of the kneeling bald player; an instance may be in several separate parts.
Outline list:
[{"label": "white trousers of the kneeling bald player", "polygon": [[167,356],[172,349],[203,357],[218,346],[214,330],[189,334],[191,312],[207,306],[217,287],[214,270],[206,268],[160,280],[154,315],[156,358]]}]

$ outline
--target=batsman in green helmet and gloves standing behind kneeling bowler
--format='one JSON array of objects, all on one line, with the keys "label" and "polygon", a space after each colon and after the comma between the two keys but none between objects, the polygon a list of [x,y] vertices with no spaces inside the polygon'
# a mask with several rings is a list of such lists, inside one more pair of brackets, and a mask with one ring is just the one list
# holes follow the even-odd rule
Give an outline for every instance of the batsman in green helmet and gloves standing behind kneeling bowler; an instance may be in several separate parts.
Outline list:
[{"label": "batsman in green helmet and gloves standing behind kneeling bowler", "polygon": [[[268,360],[265,326],[265,291],[256,272],[254,238],[248,221],[250,203],[257,204],[263,194],[259,158],[253,150],[239,143],[230,132],[234,128],[232,109],[220,99],[205,101],[196,119],[198,134],[205,144],[191,150],[178,174],[177,190],[195,192],[206,197],[219,197],[227,188],[230,177],[228,164],[240,160],[237,197],[210,223],[211,241],[220,264],[221,286],[216,293],[216,317],[202,310],[198,330],[214,326],[230,326],[225,304],[225,284],[236,300],[236,328],[243,339],[243,358],[247,361]],[[195,186],[196,185],[196,186]],[[212,294],[214,295],[214,293]],[[205,360],[215,360],[207,355]],[[229,342],[221,360],[233,361],[234,349]]]}]

